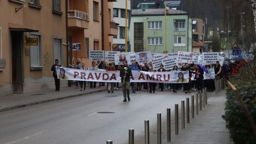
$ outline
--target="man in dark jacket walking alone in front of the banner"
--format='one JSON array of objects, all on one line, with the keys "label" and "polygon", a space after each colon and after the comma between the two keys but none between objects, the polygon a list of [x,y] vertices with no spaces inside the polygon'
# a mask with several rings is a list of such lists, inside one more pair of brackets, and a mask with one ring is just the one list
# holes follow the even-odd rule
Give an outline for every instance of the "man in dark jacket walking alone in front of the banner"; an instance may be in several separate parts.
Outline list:
[{"label": "man in dark jacket walking alone in front of the banner", "polygon": [[132,76],[131,68],[128,66],[127,61],[125,60],[123,62],[123,68],[120,71],[120,77],[121,77],[121,84],[123,87],[123,95],[124,95],[124,102],[127,101],[126,97],[128,98],[128,101],[130,101],[130,76]]}]

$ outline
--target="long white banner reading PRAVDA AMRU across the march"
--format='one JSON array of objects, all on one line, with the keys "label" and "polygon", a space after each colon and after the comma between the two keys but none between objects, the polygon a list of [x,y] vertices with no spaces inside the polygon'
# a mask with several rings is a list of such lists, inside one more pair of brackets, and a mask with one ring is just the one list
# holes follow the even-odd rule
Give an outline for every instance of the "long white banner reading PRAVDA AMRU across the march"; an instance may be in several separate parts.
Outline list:
[{"label": "long white banner reading PRAVDA AMRU across the march", "polygon": [[[56,66],[58,79],[75,80],[75,81],[90,81],[90,82],[121,82],[119,71],[97,71],[97,70],[80,70],[69,69]],[[144,72],[131,71],[130,82],[158,82],[158,83],[187,83],[188,71],[179,72]]]}]

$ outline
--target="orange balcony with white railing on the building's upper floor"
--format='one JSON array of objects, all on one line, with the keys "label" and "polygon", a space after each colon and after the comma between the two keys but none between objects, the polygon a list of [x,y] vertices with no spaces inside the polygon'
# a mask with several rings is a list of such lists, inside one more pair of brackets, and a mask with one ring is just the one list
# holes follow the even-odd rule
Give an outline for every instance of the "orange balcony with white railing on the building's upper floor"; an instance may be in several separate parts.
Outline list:
[{"label": "orange balcony with white railing on the building's upper floor", "polygon": [[88,13],[78,10],[68,10],[68,26],[89,29]]}]

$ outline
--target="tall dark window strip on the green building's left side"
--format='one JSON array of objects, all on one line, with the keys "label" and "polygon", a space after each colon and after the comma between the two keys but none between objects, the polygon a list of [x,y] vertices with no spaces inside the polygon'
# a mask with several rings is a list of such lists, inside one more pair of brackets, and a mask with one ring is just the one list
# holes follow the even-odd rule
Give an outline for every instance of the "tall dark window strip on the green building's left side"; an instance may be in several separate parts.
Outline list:
[{"label": "tall dark window strip on the green building's left side", "polygon": [[143,39],[143,23],[134,23],[134,51],[144,51],[144,39]]}]

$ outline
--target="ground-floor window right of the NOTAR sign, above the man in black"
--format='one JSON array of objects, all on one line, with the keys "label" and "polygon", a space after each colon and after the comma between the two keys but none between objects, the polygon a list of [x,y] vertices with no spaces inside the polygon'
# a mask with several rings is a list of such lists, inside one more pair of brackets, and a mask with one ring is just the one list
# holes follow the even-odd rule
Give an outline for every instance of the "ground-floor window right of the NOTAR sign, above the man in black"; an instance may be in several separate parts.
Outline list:
[{"label": "ground-floor window right of the NOTAR sign, above the man in black", "polygon": [[53,60],[55,59],[59,59],[59,64],[62,64],[62,39],[53,39]]}]

